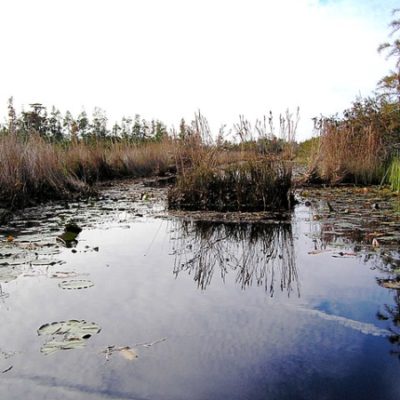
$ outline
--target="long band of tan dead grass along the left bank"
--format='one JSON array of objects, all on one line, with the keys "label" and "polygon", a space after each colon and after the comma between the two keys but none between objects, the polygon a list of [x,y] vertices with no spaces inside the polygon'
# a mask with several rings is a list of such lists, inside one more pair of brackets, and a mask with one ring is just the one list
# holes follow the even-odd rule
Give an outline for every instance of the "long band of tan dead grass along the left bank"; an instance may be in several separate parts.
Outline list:
[{"label": "long band of tan dead grass along the left bank", "polygon": [[99,180],[164,174],[172,143],[49,143],[37,134],[0,136],[0,202],[20,207],[91,193]]}]

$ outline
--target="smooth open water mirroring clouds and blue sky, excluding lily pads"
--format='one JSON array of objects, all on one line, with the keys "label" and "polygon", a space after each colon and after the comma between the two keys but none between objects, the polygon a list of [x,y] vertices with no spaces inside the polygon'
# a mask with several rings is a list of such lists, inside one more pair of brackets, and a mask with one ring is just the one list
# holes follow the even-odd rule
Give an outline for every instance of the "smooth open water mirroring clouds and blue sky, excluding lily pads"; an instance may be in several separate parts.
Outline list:
[{"label": "smooth open water mirroring clouds and blue sky, excluding lily pads", "polygon": [[[242,289],[229,269],[225,282],[216,270],[201,290],[190,271],[173,273],[176,225],[141,221],[83,231],[78,253],[65,250],[67,263],[52,267],[89,274],[90,289],[61,290],[59,280],[41,276],[3,285],[10,297],[0,304],[0,348],[19,353],[0,360],[3,369],[13,365],[1,376],[2,399],[399,398],[399,363],[387,338],[329,318],[387,326],[375,315],[392,293],[368,265],[310,256],[313,244],[299,221],[300,297],[279,285],[273,297],[263,286]],[[81,253],[86,245],[99,252]],[[102,331],[83,350],[41,355],[39,326],[66,319],[93,321]],[[139,348],[134,362],[117,355],[106,362],[100,353],[163,337]]]}]

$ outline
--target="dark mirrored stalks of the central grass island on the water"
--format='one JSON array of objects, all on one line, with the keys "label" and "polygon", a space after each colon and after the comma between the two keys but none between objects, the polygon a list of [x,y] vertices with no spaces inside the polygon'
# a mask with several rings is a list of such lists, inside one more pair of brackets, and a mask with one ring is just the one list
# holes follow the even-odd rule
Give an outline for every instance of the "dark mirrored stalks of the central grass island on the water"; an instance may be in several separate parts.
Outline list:
[{"label": "dark mirrored stalks of the central grass island on the water", "polygon": [[199,288],[206,289],[216,270],[224,281],[230,271],[235,271],[242,289],[256,284],[273,296],[278,284],[288,295],[293,290],[300,295],[291,224],[177,224],[174,231],[181,236],[174,246],[176,276],[187,271],[194,275]]}]

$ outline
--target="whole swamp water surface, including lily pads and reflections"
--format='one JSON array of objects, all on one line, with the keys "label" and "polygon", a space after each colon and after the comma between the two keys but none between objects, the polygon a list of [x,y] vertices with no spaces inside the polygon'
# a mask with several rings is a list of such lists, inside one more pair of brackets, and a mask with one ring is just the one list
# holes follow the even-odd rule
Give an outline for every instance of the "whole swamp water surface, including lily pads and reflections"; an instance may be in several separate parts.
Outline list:
[{"label": "whole swamp water surface, including lily pads and reflections", "polygon": [[196,222],[147,190],[2,227],[1,399],[400,398],[396,201],[314,191],[288,220]]}]

